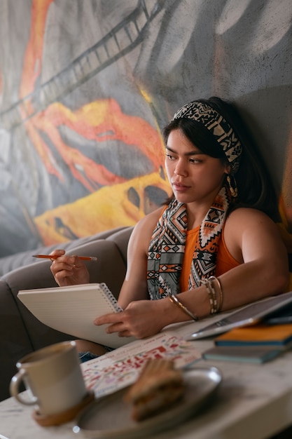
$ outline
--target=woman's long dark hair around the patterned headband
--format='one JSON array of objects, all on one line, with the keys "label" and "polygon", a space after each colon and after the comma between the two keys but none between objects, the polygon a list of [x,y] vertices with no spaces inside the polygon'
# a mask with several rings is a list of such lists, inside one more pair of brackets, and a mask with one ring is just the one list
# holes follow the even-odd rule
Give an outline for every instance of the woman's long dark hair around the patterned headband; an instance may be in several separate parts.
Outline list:
[{"label": "woman's long dark hair around the patterned headband", "polygon": [[[239,168],[234,177],[237,183],[238,196],[230,209],[250,207],[262,210],[274,221],[279,221],[278,198],[272,178],[270,177],[265,161],[260,155],[256,142],[249,129],[233,104],[221,100],[219,97],[210,97],[209,100],[199,100],[214,108],[228,121],[242,143],[242,154]],[[204,154],[211,157],[225,159],[223,150],[211,132],[202,123],[193,119],[181,118],[172,120],[163,130],[165,142],[172,130],[180,129],[188,140]]]}]

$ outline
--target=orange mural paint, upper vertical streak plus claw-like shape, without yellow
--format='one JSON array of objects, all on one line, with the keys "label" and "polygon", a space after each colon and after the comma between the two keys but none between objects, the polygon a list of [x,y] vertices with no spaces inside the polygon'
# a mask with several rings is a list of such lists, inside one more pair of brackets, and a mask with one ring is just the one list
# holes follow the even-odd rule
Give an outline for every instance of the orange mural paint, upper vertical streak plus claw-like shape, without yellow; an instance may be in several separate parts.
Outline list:
[{"label": "orange mural paint, upper vertical streak plus claw-like shape, without yellow", "polygon": [[[43,38],[46,27],[46,15],[52,0],[34,0],[32,4],[32,27],[25,53],[20,96],[32,93],[36,79],[41,72]],[[27,105],[27,108],[25,108]],[[32,114],[32,101],[25,100],[20,107],[22,117]],[[120,140],[125,144],[135,145],[153,163],[153,170],[158,170],[164,163],[164,151],[160,136],[144,119],[128,116],[121,112],[118,102],[113,99],[98,100],[84,105],[72,112],[62,104],[55,102],[25,123],[27,133],[36,151],[50,175],[64,180],[48,144],[43,141],[40,132],[48,136],[60,156],[67,164],[71,175],[81,182],[89,191],[95,191],[106,184],[125,181],[123,177],[113,175],[103,165],[85,157],[75,148],[65,144],[57,130],[60,125],[67,126],[86,139],[97,142]]]}]

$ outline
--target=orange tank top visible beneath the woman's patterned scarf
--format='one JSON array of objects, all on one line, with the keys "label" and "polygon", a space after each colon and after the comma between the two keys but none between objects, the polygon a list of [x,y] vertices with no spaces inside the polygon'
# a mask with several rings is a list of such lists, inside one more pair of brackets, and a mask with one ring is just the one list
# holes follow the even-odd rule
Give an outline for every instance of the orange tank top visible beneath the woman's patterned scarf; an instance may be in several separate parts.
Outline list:
[{"label": "orange tank top visible beneath the woman's patterned scarf", "polygon": [[[197,241],[197,235],[199,234],[199,230],[200,230],[200,226],[196,227],[193,230],[188,230],[186,232],[186,245],[185,245],[185,252],[183,256],[183,266],[181,269],[181,278],[179,281],[179,286],[181,291],[188,290],[188,278],[190,277],[190,266],[192,264],[193,252],[195,248],[195,243]],[[221,241],[217,253],[215,275],[220,276],[221,274],[226,273],[226,271],[229,271],[230,269],[238,265],[240,265],[240,262],[238,262],[234,257],[232,257],[232,255],[230,255],[230,252],[228,252],[228,249],[226,248],[224,241],[224,227],[223,227]]]}]

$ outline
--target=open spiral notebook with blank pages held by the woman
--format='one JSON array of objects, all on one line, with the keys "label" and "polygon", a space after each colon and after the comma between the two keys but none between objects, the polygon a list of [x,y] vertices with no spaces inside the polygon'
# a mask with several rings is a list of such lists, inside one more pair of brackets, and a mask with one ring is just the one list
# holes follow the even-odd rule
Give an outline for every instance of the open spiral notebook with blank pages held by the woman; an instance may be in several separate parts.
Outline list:
[{"label": "open spiral notebook with blank pages held by the woman", "polygon": [[99,316],[123,311],[105,283],[20,290],[18,299],[41,323],[78,339],[112,348],[134,340],[118,333],[107,334],[107,325],[94,325]]}]

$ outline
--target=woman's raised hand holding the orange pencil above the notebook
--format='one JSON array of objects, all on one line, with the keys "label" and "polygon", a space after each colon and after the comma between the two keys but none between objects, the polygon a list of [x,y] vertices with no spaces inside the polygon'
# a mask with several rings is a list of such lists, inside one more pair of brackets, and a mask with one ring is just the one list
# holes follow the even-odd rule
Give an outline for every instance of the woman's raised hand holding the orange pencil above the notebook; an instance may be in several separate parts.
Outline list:
[{"label": "woman's raised hand holding the orange pencil above the notebook", "polygon": [[57,256],[53,259],[50,271],[60,287],[89,283],[88,269],[78,256],[67,256],[64,250],[54,250],[50,255]]}]

